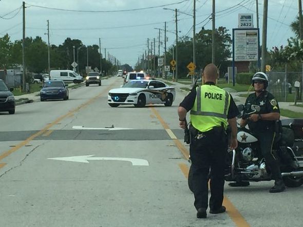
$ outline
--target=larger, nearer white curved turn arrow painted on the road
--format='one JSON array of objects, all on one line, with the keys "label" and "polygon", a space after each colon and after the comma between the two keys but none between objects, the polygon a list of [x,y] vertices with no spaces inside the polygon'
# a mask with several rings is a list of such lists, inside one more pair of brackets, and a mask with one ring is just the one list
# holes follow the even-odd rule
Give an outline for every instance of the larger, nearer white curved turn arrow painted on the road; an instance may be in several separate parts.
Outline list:
[{"label": "larger, nearer white curved turn arrow painted on the road", "polygon": [[48,158],[48,159],[60,160],[60,161],[70,161],[70,162],[84,162],[84,163],[89,163],[88,160],[128,161],[128,162],[131,162],[132,165],[149,165],[148,161],[145,159],[92,157],[92,156],[94,156],[94,155],[71,156],[71,157]]}]

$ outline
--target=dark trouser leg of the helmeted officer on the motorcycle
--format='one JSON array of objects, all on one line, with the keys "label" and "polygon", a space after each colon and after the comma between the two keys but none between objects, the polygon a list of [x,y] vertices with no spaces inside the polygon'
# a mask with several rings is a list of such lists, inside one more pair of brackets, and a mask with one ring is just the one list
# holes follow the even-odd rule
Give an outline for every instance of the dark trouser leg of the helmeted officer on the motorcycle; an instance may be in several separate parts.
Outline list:
[{"label": "dark trouser leg of the helmeted officer on the motorcycle", "polygon": [[265,164],[270,168],[272,179],[282,179],[280,165],[278,159],[272,152],[275,132],[272,130],[257,131],[254,135],[259,140],[262,156],[265,159]]}]

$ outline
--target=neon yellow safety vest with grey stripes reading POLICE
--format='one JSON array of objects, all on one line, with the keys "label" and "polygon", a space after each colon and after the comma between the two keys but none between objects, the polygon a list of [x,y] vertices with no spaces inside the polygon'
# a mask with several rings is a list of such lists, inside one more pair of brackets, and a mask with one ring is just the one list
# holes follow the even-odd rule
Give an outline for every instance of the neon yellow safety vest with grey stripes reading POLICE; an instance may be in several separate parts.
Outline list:
[{"label": "neon yellow safety vest with grey stripes reading POLICE", "polygon": [[197,97],[191,109],[191,124],[202,132],[221,126],[221,123],[226,129],[230,102],[230,94],[215,85],[197,87]]}]

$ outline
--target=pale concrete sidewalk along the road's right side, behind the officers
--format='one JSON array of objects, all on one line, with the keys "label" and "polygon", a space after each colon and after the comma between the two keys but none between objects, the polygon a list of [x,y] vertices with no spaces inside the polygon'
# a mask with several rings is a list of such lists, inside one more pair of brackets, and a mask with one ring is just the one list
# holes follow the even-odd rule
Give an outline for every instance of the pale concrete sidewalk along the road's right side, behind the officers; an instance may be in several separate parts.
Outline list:
[{"label": "pale concrete sidewalk along the road's right side, behind the officers", "polygon": [[[181,87],[187,87],[189,89],[192,89],[192,85],[185,85],[185,84],[181,84],[181,83],[178,83],[178,82],[167,81],[167,80],[164,80],[164,79],[162,79],[162,80],[164,81],[164,83],[168,82],[168,83],[174,84],[173,86],[176,89],[178,89],[179,91],[184,92],[184,94],[186,94],[187,91],[182,90]],[[231,93],[231,95],[232,95],[232,97],[235,100],[235,103],[237,105],[245,103],[246,98],[245,97],[240,97],[239,95],[240,94],[248,94],[247,91],[239,91],[239,92],[233,92],[231,90],[227,90],[227,91],[229,91]],[[298,104],[301,104],[301,103],[299,102]],[[288,110],[291,110],[291,111],[294,111],[294,112],[303,113],[303,107],[295,106],[293,102],[279,102],[279,107],[281,109],[288,109]],[[285,118],[285,117],[283,117],[283,118]]]}]

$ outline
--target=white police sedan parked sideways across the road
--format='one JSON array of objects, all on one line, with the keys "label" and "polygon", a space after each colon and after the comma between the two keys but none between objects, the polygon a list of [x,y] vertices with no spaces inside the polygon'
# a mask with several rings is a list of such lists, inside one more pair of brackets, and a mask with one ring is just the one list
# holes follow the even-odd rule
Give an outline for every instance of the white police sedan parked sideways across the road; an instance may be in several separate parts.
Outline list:
[{"label": "white police sedan parked sideways across the road", "polygon": [[172,106],[176,97],[174,87],[170,87],[158,80],[131,80],[121,88],[108,92],[108,105],[134,104],[143,107],[146,104],[164,104]]}]

